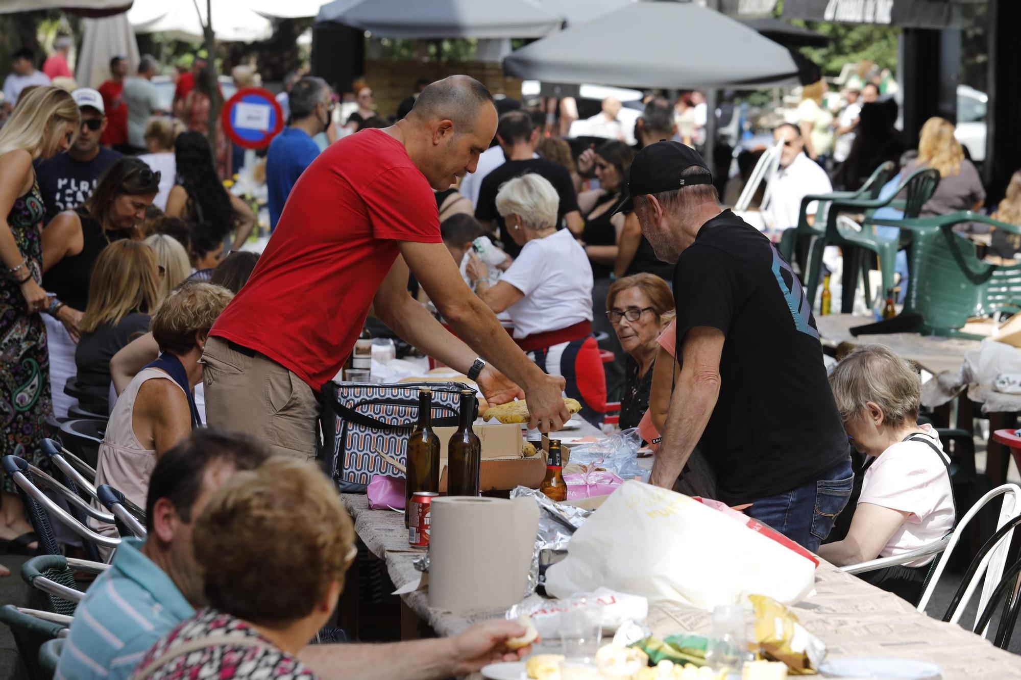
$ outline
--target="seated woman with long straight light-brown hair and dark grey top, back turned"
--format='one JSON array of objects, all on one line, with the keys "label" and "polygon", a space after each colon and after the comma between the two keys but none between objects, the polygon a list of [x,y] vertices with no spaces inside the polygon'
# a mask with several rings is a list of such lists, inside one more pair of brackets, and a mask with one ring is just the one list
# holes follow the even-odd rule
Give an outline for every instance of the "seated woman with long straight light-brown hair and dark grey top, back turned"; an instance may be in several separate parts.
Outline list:
[{"label": "seated woman with long straight light-brown hair and dark grey top, back turned", "polygon": [[161,299],[157,268],[152,248],[138,241],[114,241],[96,259],[75,350],[76,382],[88,394],[82,405],[89,410],[108,412],[110,359],[149,330]]}]

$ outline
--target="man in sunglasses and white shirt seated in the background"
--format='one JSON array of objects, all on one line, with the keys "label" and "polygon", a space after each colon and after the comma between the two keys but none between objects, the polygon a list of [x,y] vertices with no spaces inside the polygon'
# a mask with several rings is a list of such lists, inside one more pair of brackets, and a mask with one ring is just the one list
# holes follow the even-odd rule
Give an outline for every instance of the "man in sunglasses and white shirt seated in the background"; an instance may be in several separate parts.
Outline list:
[{"label": "man in sunglasses and white shirt seated in the background", "polygon": [[[829,176],[819,163],[805,153],[805,140],[797,126],[784,123],[773,131],[773,139],[783,142],[780,167],[769,181],[771,198],[763,208],[766,226],[772,229],[796,227],[801,211],[801,199],[813,194],[833,191]],[[809,203],[809,224],[815,222],[818,203]]]}]

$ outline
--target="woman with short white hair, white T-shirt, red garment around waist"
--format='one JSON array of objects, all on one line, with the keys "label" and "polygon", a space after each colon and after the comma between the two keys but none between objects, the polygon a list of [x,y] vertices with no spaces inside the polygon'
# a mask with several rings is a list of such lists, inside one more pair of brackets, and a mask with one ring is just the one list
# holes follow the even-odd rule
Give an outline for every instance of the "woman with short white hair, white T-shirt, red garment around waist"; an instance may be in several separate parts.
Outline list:
[{"label": "woman with short white hair, white T-shirt, red garment around waist", "polygon": [[506,311],[514,339],[539,368],[567,381],[565,393],[597,423],[606,404],[606,381],[592,335],[592,266],[569,230],[556,230],[560,196],[543,177],[529,174],[500,187],[496,209],[518,259],[496,284],[473,252],[467,272],[475,292],[496,313]]}]

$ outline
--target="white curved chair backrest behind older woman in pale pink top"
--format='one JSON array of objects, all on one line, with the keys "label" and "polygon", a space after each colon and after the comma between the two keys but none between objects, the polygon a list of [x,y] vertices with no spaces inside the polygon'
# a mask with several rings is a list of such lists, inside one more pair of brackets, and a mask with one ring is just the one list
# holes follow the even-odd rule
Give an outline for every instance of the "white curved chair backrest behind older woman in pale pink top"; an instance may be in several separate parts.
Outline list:
[{"label": "white curved chair backrest behind older woman in pale pink top", "polygon": [[[960,519],[957,527],[954,528],[954,533],[951,535],[951,541],[946,546],[946,550],[943,552],[942,556],[939,557],[939,564],[936,565],[935,571],[932,572],[932,578],[929,579],[928,585],[925,587],[925,591],[922,593],[922,598],[918,602],[918,611],[924,612],[925,605],[929,603],[929,599],[932,597],[932,593],[936,589],[936,583],[939,581],[939,577],[942,576],[943,570],[946,568],[946,563],[950,561],[951,555],[954,552],[954,548],[957,547],[958,542],[961,540],[961,536],[965,534],[968,529],[968,524],[978,515],[986,503],[988,503],[993,498],[1003,496],[1003,504],[1000,506],[1000,517],[996,520],[996,531],[1000,531],[1005,525],[1007,525],[1013,518],[1021,515],[1021,487],[1017,484],[1004,484],[992,489],[981,498],[979,498],[974,505],[968,508],[968,512],[964,514],[964,517]],[[962,593],[961,598],[957,601],[953,611],[950,612],[950,616],[945,619],[951,623],[957,623],[961,619],[961,615],[964,613],[965,608],[971,600],[972,595],[975,592],[975,588],[978,587],[979,581],[982,577],[985,577],[985,584],[982,586],[982,594],[979,596],[978,610],[981,612],[985,609],[986,602],[989,601],[989,597],[992,595],[992,591],[995,589],[996,584],[1000,582],[1001,577],[1004,573],[1004,564],[1007,560],[1007,550],[1010,548],[1010,541],[1004,541],[999,539],[999,544],[994,546],[990,545],[990,549],[985,551],[982,558],[975,565],[975,570],[972,573],[971,578],[967,581],[965,590]]]}]

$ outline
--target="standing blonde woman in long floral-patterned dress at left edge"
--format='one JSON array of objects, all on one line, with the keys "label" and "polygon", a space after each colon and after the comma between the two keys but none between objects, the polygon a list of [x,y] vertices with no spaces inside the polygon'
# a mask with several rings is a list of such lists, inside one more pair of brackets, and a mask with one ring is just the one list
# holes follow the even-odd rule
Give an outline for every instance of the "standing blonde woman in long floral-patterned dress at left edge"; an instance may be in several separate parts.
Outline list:
[{"label": "standing blonde woman in long floral-patterned dress at left edge", "polygon": [[[78,134],[78,104],[53,87],[22,91],[0,129],[0,456],[20,455],[45,466],[40,449],[52,414],[42,287],[43,196],[32,162],[70,148]],[[51,311],[57,312],[56,309]],[[14,480],[0,486],[0,552],[34,550],[36,536],[25,519]],[[0,575],[7,570],[0,567]]]}]

